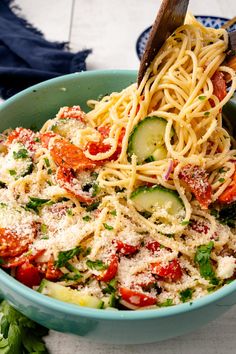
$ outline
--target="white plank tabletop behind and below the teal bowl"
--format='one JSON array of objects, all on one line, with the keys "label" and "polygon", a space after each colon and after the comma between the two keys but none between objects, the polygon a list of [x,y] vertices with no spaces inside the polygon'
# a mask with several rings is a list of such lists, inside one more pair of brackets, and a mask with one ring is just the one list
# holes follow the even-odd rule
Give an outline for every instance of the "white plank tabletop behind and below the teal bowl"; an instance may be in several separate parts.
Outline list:
[{"label": "white plank tabletop behind and below the teal bowl", "polygon": [[[159,0],[17,0],[24,15],[50,40],[71,42],[71,49],[92,48],[88,69],[137,69],[138,35],[155,18]],[[198,15],[233,17],[236,0],[192,0]],[[233,354],[236,307],[192,334],[155,344],[105,345],[54,331],[46,339],[52,354]]]}]

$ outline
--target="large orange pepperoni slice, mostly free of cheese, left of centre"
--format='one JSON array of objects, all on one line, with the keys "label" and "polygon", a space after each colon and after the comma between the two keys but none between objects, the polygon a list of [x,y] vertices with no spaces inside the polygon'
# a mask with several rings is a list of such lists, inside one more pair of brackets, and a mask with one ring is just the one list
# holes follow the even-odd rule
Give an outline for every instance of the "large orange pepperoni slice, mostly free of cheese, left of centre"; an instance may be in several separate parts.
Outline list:
[{"label": "large orange pepperoni slice, mostly free of cheese, left of centre", "polygon": [[55,139],[50,153],[55,163],[60,167],[74,171],[96,167],[96,164],[92,160],[89,160],[79,147],[65,139]]}]

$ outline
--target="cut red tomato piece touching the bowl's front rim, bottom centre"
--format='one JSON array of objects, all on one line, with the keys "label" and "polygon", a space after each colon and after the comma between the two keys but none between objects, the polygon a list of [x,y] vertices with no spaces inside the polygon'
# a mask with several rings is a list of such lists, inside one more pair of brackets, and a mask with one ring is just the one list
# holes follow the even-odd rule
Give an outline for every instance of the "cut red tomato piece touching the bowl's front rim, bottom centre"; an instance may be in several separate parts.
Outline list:
[{"label": "cut red tomato piece touching the bowl's front rim, bottom centre", "polygon": [[126,302],[137,307],[156,305],[157,299],[153,296],[140,293],[128,288],[119,288],[120,296]]}]

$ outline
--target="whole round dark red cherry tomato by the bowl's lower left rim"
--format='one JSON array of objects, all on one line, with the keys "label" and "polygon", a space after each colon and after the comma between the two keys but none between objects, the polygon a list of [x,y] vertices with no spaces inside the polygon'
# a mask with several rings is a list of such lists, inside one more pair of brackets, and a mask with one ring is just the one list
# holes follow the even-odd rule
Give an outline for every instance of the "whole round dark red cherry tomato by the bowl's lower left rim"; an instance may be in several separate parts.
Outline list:
[{"label": "whole round dark red cherry tomato by the bowl's lower left rim", "polygon": [[16,268],[16,279],[32,288],[40,284],[42,276],[36,266],[30,262],[25,262]]}]

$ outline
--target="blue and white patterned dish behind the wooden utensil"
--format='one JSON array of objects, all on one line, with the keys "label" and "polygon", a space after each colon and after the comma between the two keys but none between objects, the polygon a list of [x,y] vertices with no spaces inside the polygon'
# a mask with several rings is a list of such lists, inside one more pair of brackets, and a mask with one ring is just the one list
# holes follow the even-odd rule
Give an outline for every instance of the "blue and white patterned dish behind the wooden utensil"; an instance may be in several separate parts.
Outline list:
[{"label": "blue and white patterned dish behind the wooden utensil", "polygon": [[[201,22],[204,26],[206,27],[213,27],[213,28],[220,28],[221,26],[223,26],[229,19],[225,18],[225,17],[217,17],[217,16],[195,16],[196,19]],[[138,37],[137,42],[136,42],[136,52],[137,55],[139,57],[139,59],[141,59],[144,50],[145,50],[145,46],[148,40],[148,36],[149,33],[151,31],[152,26],[146,28]],[[236,30],[236,24],[230,26],[230,28],[228,29],[230,32],[231,31],[235,31]]]}]

